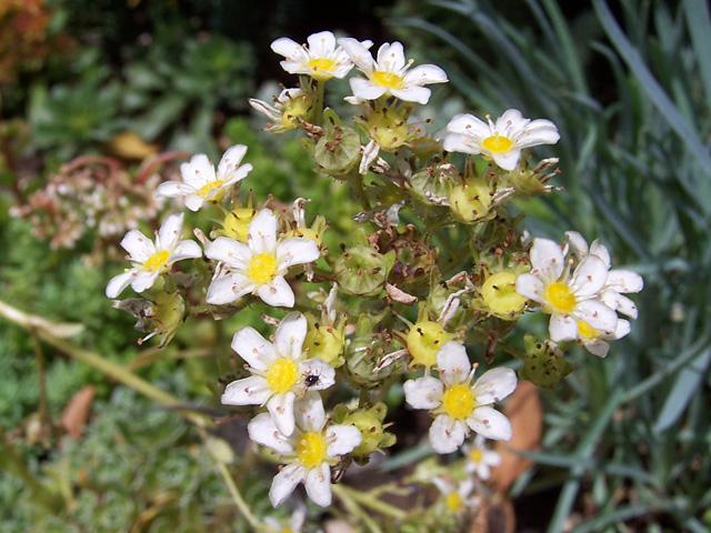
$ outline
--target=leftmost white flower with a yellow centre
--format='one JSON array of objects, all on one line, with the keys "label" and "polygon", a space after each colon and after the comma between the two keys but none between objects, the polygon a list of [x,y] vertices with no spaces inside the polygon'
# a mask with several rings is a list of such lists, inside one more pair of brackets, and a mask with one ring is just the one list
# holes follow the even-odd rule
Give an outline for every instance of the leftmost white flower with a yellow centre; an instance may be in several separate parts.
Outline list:
[{"label": "leftmost white flower with a yellow centre", "polygon": [[133,266],[109,281],[107,296],[117,298],[129,285],[136,292],[143,292],[153,286],[156,279],[176,261],[202,257],[197,242],[180,240],[181,232],[182,213],[166,219],[156,233],[156,242],[138,230],[129,231],[121,240],[121,247],[129,252]]}]

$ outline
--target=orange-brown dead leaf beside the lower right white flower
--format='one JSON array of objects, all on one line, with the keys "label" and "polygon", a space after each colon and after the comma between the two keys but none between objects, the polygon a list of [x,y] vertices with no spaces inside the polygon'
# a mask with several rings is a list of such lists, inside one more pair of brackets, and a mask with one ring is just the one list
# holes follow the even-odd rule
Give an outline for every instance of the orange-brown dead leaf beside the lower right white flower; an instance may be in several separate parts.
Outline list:
[{"label": "orange-brown dead leaf beside the lower right white flower", "polygon": [[535,385],[528,381],[519,382],[503,412],[511,421],[512,436],[509,442],[497,443],[501,464],[492,471],[491,482],[500,492],[508,491],[519,475],[531,466],[530,460],[514,452],[534,451],[541,444],[543,410]]}]

